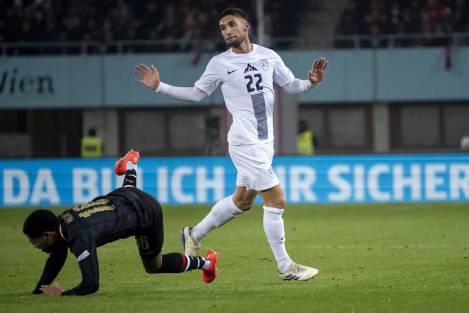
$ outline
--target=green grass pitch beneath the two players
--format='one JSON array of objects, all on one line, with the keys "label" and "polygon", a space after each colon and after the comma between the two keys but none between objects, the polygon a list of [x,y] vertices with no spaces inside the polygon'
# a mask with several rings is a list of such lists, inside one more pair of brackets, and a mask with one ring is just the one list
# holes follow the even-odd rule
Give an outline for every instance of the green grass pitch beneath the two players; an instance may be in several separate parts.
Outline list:
[{"label": "green grass pitch beneath the two players", "polygon": [[[165,206],[163,253],[181,252],[179,230],[209,210]],[[288,252],[319,269],[308,282],[277,276],[256,205],[204,240],[203,254],[219,252],[211,284],[199,271],[146,274],[128,238],[98,249],[99,292],[57,298],[30,294],[46,260],[22,234],[30,211],[0,209],[0,312],[469,312],[468,202],[289,205]],[[80,279],[69,254],[56,281]]]}]

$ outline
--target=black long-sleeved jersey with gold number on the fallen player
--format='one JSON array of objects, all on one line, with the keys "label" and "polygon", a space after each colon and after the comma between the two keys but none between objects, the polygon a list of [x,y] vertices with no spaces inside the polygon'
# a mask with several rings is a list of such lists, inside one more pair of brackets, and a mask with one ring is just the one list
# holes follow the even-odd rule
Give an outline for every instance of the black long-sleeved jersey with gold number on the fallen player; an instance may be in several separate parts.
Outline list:
[{"label": "black long-sleeved jersey with gold number on the fallen player", "polygon": [[63,211],[58,218],[59,242],[50,253],[37,290],[57,277],[70,248],[77,257],[82,281],[63,295],[82,295],[96,292],[99,288],[96,248],[121,238],[148,234],[161,223],[161,207],[148,193],[134,187],[123,187]]}]

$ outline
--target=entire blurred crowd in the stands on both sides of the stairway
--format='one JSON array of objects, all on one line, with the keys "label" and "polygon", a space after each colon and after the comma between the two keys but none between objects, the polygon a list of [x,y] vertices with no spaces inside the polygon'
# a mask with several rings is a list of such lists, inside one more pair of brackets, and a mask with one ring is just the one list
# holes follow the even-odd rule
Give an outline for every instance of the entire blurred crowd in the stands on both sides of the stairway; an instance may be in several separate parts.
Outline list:
[{"label": "entire blurred crowd in the stands on both sides of the stairway", "polygon": [[[14,48],[14,53],[99,53],[102,43],[154,39],[145,46],[126,44],[121,52],[224,50],[218,25],[223,8],[237,6],[248,13],[256,42],[254,0],[0,0],[0,44],[52,41],[48,48]],[[266,46],[272,37],[294,37],[315,1],[265,1]],[[336,35],[424,34],[423,39],[397,39],[395,46],[446,45],[435,38],[451,32],[469,32],[469,0],[348,0]],[[159,44],[159,39],[163,39]],[[423,42],[422,42],[423,40]],[[155,43],[158,41],[157,43]],[[61,45],[63,43],[63,45]],[[92,43],[96,43],[93,44]],[[388,46],[387,39],[361,40],[360,46]],[[355,46],[339,39],[335,46]],[[82,45],[84,46],[84,45]],[[112,46],[112,45],[111,45]],[[118,44],[112,46],[119,49]],[[276,45],[274,48],[286,48]],[[20,51],[20,49],[22,49]],[[29,50],[28,50],[29,49]],[[106,50],[107,53],[115,51]]]}]

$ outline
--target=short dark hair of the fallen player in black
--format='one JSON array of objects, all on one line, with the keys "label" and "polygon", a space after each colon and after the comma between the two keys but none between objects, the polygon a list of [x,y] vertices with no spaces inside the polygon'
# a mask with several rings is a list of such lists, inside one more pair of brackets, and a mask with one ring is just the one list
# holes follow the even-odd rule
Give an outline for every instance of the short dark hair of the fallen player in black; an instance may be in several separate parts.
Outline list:
[{"label": "short dark hair of the fallen player in black", "polygon": [[56,231],[59,220],[51,211],[39,209],[33,211],[24,221],[23,234],[37,238],[45,231]]}]

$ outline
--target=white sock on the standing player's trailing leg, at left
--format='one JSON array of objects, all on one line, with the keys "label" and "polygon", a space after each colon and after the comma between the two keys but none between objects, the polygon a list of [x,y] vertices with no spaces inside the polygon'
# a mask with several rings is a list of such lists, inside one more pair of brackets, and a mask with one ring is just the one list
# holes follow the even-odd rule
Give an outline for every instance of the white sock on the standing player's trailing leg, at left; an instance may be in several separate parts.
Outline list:
[{"label": "white sock on the standing player's trailing leg, at left", "polygon": [[219,202],[212,207],[207,216],[192,229],[192,238],[197,241],[197,243],[200,243],[203,237],[207,236],[215,227],[220,227],[232,220],[235,216],[243,213],[244,211],[241,211],[234,205],[232,196],[223,198],[219,200]]}]

